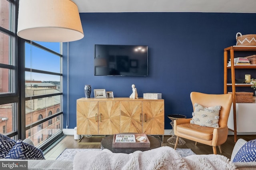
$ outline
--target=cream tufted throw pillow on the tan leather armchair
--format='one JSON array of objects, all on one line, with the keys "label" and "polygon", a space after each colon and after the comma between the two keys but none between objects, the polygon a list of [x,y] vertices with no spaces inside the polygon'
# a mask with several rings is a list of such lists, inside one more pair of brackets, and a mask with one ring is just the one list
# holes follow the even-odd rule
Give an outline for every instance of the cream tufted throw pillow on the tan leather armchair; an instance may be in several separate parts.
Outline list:
[{"label": "cream tufted throw pillow on the tan leather armchair", "polygon": [[219,113],[221,106],[204,107],[200,104],[194,104],[194,112],[192,113],[191,124],[196,124],[206,127],[219,127]]}]

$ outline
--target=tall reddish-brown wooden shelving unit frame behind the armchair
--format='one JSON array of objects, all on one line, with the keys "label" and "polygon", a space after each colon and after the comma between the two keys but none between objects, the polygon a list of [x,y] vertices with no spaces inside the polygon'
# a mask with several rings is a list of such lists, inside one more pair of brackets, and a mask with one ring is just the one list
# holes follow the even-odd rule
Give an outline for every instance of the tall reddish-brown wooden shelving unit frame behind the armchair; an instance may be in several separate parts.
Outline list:
[{"label": "tall reddish-brown wooden shelving unit frame behind the armchair", "polygon": [[[234,114],[234,142],[237,141],[237,122],[236,122],[236,87],[250,87],[251,84],[236,84],[235,70],[236,69],[256,69],[256,65],[235,65],[234,52],[235,51],[256,51],[256,46],[230,46],[224,49],[224,94],[228,93],[228,86],[232,86],[233,95],[233,114]],[[228,55],[229,54],[229,55]],[[246,56],[244,56],[246,57]],[[230,58],[231,66],[228,66],[228,59]],[[231,84],[228,84],[228,69],[231,69]],[[230,129],[231,130],[231,129]]]}]

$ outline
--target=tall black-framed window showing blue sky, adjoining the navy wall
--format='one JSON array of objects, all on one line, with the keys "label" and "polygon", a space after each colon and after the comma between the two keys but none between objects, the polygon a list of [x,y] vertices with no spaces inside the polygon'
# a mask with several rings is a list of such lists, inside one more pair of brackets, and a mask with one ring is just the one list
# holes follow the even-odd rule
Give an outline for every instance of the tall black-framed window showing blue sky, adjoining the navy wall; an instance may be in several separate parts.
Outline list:
[{"label": "tall black-framed window showing blue sky, adjoining the navy wall", "polygon": [[[47,47],[46,47],[47,46]],[[51,49],[50,49],[51,48]],[[48,141],[62,129],[62,55],[60,43],[25,43],[26,137],[40,143]],[[40,119],[39,119],[39,117]],[[37,129],[33,128],[37,125]]]}]

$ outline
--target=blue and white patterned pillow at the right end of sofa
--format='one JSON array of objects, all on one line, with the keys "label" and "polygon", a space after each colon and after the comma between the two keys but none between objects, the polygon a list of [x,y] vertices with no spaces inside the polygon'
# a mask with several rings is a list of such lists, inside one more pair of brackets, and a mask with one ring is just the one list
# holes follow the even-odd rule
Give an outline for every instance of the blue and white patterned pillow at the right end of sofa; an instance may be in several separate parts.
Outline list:
[{"label": "blue and white patterned pillow at the right end of sofa", "polygon": [[245,143],[234,156],[233,162],[255,162],[256,139]]}]

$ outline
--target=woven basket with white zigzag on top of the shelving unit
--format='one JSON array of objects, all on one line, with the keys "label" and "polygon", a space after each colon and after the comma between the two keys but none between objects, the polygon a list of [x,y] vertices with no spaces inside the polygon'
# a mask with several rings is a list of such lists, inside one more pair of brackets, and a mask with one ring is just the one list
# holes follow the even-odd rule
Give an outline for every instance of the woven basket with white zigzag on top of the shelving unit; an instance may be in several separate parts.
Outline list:
[{"label": "woven basket with white zigzag on top of the shelving unit", "polygon": [[236,33],[236,45],[256,45],[256,34],[242,35]]}]

